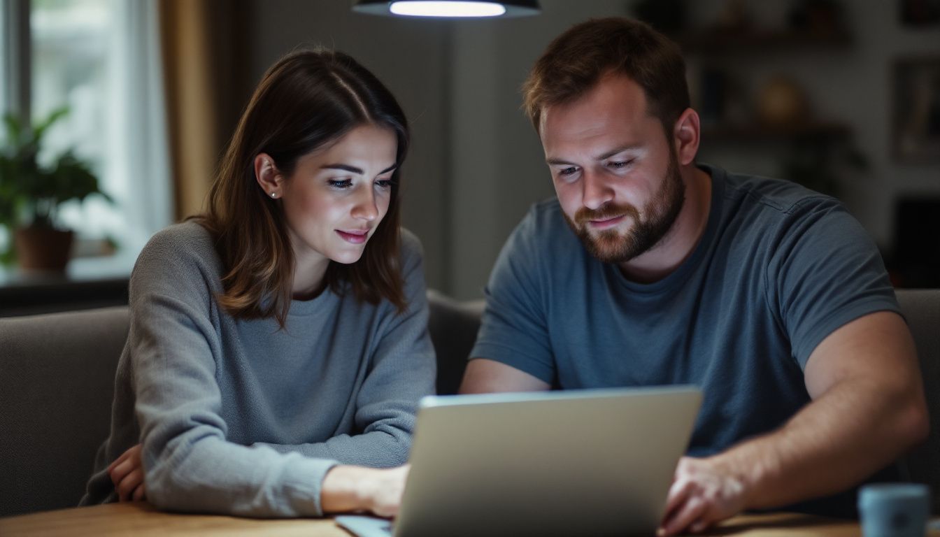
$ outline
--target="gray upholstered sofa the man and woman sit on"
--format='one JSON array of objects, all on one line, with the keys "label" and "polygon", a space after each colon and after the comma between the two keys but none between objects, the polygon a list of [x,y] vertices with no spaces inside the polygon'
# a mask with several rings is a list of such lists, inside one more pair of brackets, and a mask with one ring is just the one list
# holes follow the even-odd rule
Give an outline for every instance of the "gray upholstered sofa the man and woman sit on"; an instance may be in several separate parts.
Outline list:
[{"label": "gray upholstered sofa the man and woman sit on", "polygon": [[[482,301],[429,292],[439,393],[457,391]],[[928,387],[940,380],[940,290],[899,291]],[[128,309],[0,319],[0,516],[71,507],[108,434]],[[940,492],[940,391],[927,389],[932,431],[901,462]],[[934,513],[940,513],[934,503]]]}]

